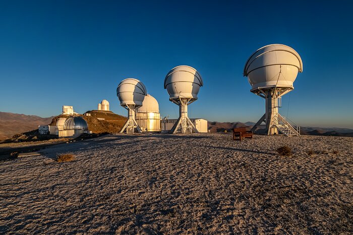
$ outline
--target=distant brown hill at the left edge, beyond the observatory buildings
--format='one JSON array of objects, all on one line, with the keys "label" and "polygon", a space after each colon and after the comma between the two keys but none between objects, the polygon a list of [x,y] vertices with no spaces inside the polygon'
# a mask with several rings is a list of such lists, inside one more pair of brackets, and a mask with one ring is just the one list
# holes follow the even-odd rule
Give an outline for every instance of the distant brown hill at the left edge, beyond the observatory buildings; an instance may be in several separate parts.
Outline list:
[{"label": "distant brown hill at the left edge, beyond the observatory buildings", "polygon": [[0,140],[12,138],[15,134],[38,129],[39,125],[48,125],[54,117],[41,118],[12,112],[0,112]]}]

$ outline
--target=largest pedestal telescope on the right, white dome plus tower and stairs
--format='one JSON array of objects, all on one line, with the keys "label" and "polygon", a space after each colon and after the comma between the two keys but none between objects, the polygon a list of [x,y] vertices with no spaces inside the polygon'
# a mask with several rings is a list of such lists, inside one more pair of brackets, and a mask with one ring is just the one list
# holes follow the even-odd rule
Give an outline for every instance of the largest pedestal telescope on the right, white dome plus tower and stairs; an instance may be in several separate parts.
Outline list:
[{"label": "largest pedestal telescope on the right, white dome plus tower and stairs", "polygon": [[300,127],[278,113],[282,95],[294,89],[293,82],[303,71],[302,58],[293,48],[282,44],[261,47],[248,59],[244,76],[248,77],[251,92],[265,98],[266,112],[255,124],[255,131],[262,122],[267,135],[300,136]]}]

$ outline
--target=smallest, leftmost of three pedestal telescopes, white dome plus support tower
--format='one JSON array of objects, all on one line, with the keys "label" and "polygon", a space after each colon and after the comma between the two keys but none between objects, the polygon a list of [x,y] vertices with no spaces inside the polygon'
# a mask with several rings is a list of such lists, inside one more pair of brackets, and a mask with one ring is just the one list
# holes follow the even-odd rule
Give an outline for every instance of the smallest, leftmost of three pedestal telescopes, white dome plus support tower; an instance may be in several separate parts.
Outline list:
[{"label": "smallest, leftmost of three pedestal telescopes, white dome plus support tower", "polygon": [[142,106],[146,95],[147,91],[145,85],[135,78],[127,78],[117,86],[116,96],[120,100],[120,105],[129,111],[128,120],[120,133],[126,130],[127,134],[133,134],[135,128],[139,133],[142,132],[135,119],[135,110]]}]

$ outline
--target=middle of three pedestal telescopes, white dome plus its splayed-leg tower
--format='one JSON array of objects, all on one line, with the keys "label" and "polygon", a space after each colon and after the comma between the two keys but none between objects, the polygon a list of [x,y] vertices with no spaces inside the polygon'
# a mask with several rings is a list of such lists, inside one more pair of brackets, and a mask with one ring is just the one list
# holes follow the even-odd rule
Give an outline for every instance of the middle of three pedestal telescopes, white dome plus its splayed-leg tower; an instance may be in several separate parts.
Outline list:
[{"label": "middle of three pedestal telescopes, white dome plus its splayed-leg tower", "polygon": [[201,75],[190,66],[177,66],[169,71],[164,79],[164,89],[167,89],[169,100],[179,105],[179,119],[170,133],[197,132],[188,118],[188,105],[197,100],[200,87],[203,86]]}]

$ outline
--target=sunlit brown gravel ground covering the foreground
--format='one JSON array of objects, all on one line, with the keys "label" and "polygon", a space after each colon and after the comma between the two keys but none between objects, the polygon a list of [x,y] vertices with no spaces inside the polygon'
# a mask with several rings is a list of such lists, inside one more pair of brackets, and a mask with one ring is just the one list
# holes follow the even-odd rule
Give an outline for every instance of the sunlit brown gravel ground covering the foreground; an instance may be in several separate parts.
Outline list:
[{"label": "sunlit brown gravel ground covering the foreground", "polygon": [[55,145],[0,162],[0,233],[351,234],[352,150],[348,137],[229,134]]}]

